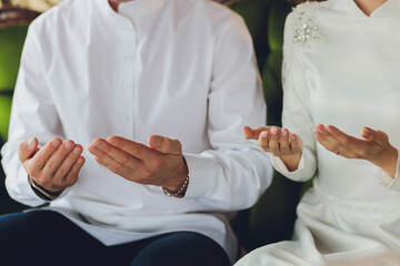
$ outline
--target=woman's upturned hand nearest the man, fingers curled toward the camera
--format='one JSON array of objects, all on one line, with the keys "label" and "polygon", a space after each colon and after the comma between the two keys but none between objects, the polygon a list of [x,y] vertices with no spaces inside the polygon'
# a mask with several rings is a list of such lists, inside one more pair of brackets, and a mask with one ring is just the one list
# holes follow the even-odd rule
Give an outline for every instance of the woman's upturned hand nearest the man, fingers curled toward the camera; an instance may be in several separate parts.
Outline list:
[{"label": "woman's upturned hand nearest the man, fingers curled toward the camera", "polygon": [[299,167],[302,142],[297,134],[278,126],[244,126],[243,135],[246,140],[257,140],[262,151],[280,157],[290,172]]}]

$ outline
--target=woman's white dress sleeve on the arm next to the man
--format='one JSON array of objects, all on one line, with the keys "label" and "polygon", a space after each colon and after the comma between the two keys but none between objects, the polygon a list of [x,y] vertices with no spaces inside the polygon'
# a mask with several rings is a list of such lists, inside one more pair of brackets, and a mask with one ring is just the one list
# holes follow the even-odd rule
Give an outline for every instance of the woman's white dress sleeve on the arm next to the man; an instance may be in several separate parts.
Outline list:
[{"label": "woman's white dress sleeve on the arm next to the man", "polygon": [[302,140],[303,149],[298,170],[289,172],[279,157],[272,156],[274,168],[286,177],[293,181],[308,181],[317,170],[316,141],[312,135],[314,126],[309,99],[310,92],[306,79],[306,70],[302,66],[299,45],[292,40],[292,14],[289,14],[284,25],[283,41],[283,112],[282,125],[290,132],[296,133]]}]

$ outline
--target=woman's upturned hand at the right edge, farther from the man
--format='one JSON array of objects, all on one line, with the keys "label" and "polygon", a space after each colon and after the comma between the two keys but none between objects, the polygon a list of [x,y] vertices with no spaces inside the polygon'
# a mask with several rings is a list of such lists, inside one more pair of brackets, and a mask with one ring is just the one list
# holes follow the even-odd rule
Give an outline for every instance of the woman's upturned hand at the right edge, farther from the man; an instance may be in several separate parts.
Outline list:
[{"label": "woman's upturned hand at the right edge, farther from the man", "polygon": [[317,141],[328,151],[347,158],[367,160],[394,177],[398,151],[390,144],[387,133],[363,127],[362,139],[357,139],[333,125],[322,124],[317,125],[312,132]]}]

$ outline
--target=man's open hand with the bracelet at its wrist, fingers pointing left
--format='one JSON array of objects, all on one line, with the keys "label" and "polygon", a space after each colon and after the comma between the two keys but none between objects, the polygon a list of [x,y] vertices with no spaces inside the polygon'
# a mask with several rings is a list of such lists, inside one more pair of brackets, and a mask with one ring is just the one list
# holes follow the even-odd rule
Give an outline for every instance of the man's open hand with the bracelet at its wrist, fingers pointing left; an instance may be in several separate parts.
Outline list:
[{"label": "man's open hand with the bracelet at its wrist, fingers pointing left", "polygon": [[99,164],[129,181],[179,191],[189,174],[181,143],[160,135],[149,136],[148,142],[146,146],[109,136],[93,140],[88,150]]}]

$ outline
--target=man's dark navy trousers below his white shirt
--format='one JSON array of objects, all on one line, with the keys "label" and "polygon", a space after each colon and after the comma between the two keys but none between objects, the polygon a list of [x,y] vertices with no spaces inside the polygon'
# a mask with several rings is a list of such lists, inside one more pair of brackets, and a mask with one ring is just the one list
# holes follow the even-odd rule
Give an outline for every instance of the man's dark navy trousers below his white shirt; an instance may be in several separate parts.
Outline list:
[{"label": "man's dark navy trousers below his white shirt", "polygon": [[228,266],[211,238],[192,232],[104,246],[59,213],[36,211],[0,216],[1,266]]}]

